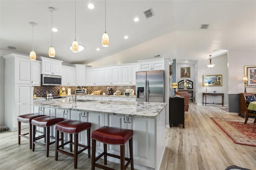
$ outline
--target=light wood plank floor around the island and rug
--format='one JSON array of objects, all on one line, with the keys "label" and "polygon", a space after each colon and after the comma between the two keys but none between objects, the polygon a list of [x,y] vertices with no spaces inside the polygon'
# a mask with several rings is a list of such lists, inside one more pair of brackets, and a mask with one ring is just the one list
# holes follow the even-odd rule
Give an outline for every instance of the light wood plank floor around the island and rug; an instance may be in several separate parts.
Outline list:
[{"label": "light wood plank floor around the island and rug", "polygon": [[[256,147],[234,144],[210,117],[244,120],[228,115],[218,106],[190,103],[189,111],[185,112],[185,128],[182,125],[166,128],[166,149],[160,170],[224,170],[229,165],[256,170]],[[253,120],[249,118],[250,122]],[[17,132],[0,133],[1,170],[74,169],[70,156],[59,154],[58,161],[54,160],[54,144],[46,158],[42,146],[36,145],[35,152],[32,152],[27,139],[21,138],[18,145],[17,138]],[[120,169],[113,162],[108,162],[108,165]],[[91,159],[87,154],[78,156],[77,169],[91,169]]]}]

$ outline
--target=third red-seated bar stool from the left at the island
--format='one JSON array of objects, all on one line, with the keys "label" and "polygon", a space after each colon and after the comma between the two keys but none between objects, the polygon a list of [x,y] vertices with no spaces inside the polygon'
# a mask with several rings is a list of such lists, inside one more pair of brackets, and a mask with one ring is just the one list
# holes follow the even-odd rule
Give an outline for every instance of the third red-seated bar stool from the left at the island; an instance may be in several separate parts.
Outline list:
[{"label": "third red-seated bar stool from the left at the island", "polygon": [[[56,129],[56,143],[55,143],[55,160],[58,160],[58,152],[62,154],[66,154],[68,156],[72,156],[74,158],[74,168],[77,168],[77,159],[78,154],[82,153],[84,150],[88,149],[88,158],[91,157],[91,123],[88,122],[80,122],[75,120],[68,120],[57,123],[55,126]],[[87,146],[83,144],[78,144],[78,134],[87,130]],[[59,145],[59,132],[69,133],[70,140],[65,142],[64,144]],[[73,142],[73,134],[74,134],[74,142]],[[63,148],[64,145],[70,144],[70,152],[72,152],[72,144],[74,144],[74,154],[70,152],[66,152],[64,150],[59,149],[60,147]],[[78,146],[83,147],[81,150],[78,151]]]}]

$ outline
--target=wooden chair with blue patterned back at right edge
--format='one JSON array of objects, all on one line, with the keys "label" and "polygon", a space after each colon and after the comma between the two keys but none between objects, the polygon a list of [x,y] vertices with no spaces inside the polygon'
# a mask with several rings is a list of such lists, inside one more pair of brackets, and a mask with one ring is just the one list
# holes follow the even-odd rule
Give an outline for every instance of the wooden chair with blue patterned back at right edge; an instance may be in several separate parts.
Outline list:
[{"label": "wooden chair with blue patterned back at right edge", "polygon": [[244,95],[243,103],[244,103],[244,110],[246,111],[244,124],[247,123],[249,116],[255,117],[254,123],[256,123],[256,111],[248,110],[249,103],[252,101],[256,101],[255,96],[253,93],[242,93],[242,94]]}]

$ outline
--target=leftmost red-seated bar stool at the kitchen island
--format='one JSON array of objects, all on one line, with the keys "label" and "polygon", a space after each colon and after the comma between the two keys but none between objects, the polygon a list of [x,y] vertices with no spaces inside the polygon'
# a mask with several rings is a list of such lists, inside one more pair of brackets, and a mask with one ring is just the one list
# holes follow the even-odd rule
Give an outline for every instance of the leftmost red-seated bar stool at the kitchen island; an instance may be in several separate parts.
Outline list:
[{"label": "leftmost red-seated bar stool at the kitchen island", "polygon": [[[37,117],[42,117],[45,115],[38,115],[36,113],[29,113],[25,115],[20,115],[17,117],[18,121],[18,144],[20,144],[20,137],[24,137],[29,139],[29,147],[32,149],[32,125],[31,120]],[[28,133],[20,134],[21,133],[21,123],[28,123]],[[28,134],[28,136],[26,136]]]}]

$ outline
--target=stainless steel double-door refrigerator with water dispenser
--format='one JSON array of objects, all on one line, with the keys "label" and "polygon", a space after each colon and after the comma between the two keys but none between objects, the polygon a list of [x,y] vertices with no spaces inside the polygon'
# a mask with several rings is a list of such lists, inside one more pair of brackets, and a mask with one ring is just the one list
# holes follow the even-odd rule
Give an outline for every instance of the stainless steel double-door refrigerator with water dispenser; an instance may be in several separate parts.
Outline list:
[{"label": "stainless steel double-door refrigerator with water dispenser", "polygon": [[136,101],[164,102],[164,70],[136,72]]}]

